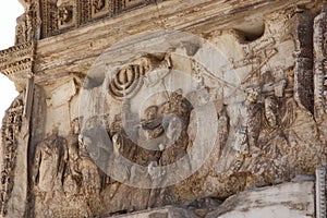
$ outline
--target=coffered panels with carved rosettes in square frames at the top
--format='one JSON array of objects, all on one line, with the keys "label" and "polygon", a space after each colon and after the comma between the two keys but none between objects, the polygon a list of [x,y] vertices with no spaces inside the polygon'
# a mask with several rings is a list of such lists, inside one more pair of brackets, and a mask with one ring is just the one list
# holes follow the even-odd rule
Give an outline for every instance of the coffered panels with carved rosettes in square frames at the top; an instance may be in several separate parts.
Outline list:
[{"label": "coffered panels with carved rosettes in square frames at the top", "polygon": [[43,0],[40,1],[41,38],[154,2],[154,0],[74,0],[68,2]]}]

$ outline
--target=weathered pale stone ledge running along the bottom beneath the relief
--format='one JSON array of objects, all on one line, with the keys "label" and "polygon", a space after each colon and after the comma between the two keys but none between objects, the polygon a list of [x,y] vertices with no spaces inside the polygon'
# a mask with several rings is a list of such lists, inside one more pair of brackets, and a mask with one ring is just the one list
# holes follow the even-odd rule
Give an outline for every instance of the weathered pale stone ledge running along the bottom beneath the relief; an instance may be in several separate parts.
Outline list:
[{"label": "weathered pale stone ledge running along the bottom beneath the relief", "polygon": [[[253,218],[263,215],[269,218],[315,217],[315,187],[310,178],[298,182],[247,190],[227,198],[205,218]],[[193,208],[194,209],[194,208]],[[201,209],[201,208],[196,208]],[[195,209],[195,210],[196,210]],[[199,218],[187,207],[166,206],[102,218]]]}]

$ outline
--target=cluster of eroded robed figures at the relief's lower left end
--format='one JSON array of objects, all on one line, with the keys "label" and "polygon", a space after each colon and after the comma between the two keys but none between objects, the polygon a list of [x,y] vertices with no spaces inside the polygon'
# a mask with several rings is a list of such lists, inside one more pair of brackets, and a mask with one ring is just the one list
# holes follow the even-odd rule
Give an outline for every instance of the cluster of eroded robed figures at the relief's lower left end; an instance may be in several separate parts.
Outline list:
[{"label": "cluster of eroded robed figures at the relief's lower left end", "polygon": [[[89,217],[97,214],[102,181],[87,150],[87,140],[81,135],[78,119],[74,119],[66,138],[55,130],[36,145],[34,192],[36,202],[46,208],[38,216]],[[66,209],[58,202],[66,202]],[[83,205],[83,209],[75,211],[74,206],[78,205]]]}]

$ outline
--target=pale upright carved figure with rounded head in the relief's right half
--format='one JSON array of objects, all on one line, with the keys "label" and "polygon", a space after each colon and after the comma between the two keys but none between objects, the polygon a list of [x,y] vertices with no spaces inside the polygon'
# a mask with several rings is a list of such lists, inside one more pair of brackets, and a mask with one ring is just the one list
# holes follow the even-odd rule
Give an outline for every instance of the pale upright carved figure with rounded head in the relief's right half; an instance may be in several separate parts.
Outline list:
[{"label": "pale upright carved figure with rounded head in the relief's right half", "polygon": [[240,106],[233,148],[242,155],[258,150],[257,140],[262,126],[262,104],[258,87],[245,88],[245,101]]}]

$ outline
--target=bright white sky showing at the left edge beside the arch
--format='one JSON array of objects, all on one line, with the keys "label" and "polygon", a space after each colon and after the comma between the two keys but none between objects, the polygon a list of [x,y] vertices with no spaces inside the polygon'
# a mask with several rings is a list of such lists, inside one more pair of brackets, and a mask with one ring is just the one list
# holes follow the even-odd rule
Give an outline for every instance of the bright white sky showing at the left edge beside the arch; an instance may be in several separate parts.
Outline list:
[{"label": "bright white sky showing at the left edge beside the arch", "polygon": [[[0,50],[14,45],[16,17],[23,12],[19,0],[0,1]],[[4,111],[16,96],[14,84],[0,73],[0,125]]]}]

